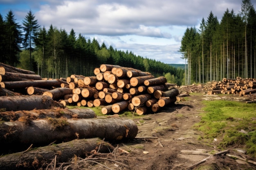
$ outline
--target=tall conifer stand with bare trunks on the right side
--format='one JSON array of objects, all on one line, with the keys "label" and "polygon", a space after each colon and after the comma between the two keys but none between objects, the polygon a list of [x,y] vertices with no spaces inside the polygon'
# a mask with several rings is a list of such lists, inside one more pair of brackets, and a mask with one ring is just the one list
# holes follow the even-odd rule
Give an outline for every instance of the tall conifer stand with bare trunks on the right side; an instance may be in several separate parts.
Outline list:
[{"label": "tall conifer stand with bare trunks on the right side", "polygon": [[180,52],[186,61],[186,84],[255,78],[256,12],[251,0],[242,0],[238,14],[227,9],[219,21],[211,11],[199,29],[187,28]]}]

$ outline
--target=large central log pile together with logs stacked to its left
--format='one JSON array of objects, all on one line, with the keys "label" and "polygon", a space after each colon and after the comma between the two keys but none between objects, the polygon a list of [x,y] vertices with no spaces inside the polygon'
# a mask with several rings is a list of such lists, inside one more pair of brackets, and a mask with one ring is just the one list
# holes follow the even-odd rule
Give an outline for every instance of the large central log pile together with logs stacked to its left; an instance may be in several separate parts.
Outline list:
[{"label": "large central log pile together with logs stacked to its left", "polygon": [[0,75],[2,96],[26,91],[27,95],[49,96],[64,106],[102,106],[104,115],[126,109],[138,115],[155,113],[174,104],[179,95],[176,84],[167,83],[163,76],[154,77],[135,68],[110,64],[101,64],[90,77],[42,79],[34,72],[1,63]]}]

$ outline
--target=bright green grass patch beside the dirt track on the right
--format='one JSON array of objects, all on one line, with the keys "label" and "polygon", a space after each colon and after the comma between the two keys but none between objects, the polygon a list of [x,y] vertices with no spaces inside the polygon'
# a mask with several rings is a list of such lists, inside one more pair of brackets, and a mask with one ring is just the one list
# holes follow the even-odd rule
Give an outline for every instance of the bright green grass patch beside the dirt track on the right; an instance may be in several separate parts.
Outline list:
[{"label": "bright green grass patch beside the dirt track on the right", "polygon": [[256,104],[236,101],[204,101],[200,123],[194,128],[204,132],[200,139],[220,139],[218,148],[242,147],[256,157]]}]

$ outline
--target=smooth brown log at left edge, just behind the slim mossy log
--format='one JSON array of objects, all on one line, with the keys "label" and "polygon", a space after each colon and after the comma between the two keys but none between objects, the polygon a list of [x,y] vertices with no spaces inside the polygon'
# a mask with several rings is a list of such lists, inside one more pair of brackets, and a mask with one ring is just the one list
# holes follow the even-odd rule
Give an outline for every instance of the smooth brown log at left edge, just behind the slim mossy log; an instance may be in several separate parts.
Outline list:
[{"label": "smooth brown log at left edge, just behind the slim mossy log", "polygon": [[62,105],[54,101],[49,96],[2,96],[0,97],[0,108],[6,111],[49,109],[51,107],[61,107]]}]

